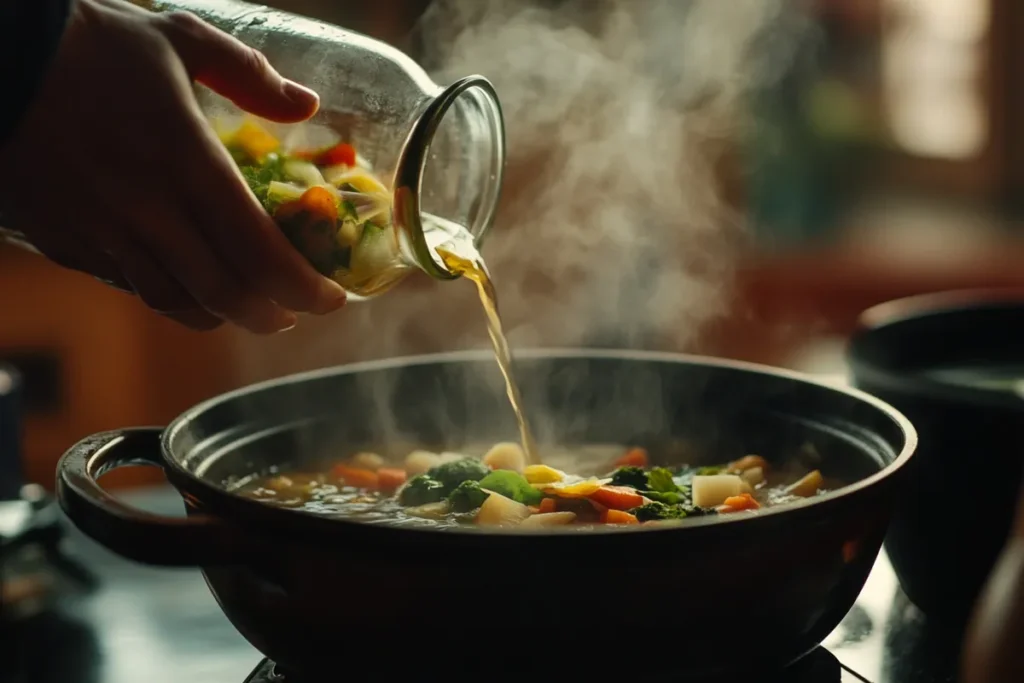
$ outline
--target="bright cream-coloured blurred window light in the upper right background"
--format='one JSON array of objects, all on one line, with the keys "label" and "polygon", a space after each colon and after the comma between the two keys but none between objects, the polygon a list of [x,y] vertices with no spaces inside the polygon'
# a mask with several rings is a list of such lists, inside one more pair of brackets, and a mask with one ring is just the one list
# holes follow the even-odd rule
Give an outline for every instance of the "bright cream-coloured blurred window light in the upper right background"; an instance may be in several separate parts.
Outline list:
[{"label": "bright cream-coloured blurred window light in the upper right background", "polygon": [[924,157],[968,159],[985,145],[981,92],[988,0],[883,0],[883,82],[895,142]]}]

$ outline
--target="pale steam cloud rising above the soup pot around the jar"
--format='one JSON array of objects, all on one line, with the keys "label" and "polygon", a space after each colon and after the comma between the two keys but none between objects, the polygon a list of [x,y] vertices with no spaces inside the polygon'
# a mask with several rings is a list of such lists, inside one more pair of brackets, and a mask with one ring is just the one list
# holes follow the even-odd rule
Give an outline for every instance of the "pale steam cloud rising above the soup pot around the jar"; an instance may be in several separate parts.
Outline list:
[{"label": "pale steam cloud rising above the soup pot around the jar", "polygon": [[[505,109],[505,189],[482,251],[513,348],[685,350],[727,312],[743,225],[719,157],[749,123],[743,98],[808,31],[785,0],[434,1],[414,56],[439,83],[488,77]],[[414,275],[261,343],[247,380],[484,348],[475,296]]]}]

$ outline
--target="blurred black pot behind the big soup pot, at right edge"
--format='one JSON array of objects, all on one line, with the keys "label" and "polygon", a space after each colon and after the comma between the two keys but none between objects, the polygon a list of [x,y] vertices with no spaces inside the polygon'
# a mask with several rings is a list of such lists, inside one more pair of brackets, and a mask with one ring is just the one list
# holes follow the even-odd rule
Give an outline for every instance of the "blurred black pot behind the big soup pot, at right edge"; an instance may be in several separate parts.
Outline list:
[{"label": "blurred black pot behind the big soup pot, at right edge", "polygon": [[862,315],[848,359],[856,386],[921,435],[886,539],[893,568],[929,616],[963,625],[1006,542],[1024,474],[1024,396],[964,378],[1024,373],[1024,292],[882,304]]}]

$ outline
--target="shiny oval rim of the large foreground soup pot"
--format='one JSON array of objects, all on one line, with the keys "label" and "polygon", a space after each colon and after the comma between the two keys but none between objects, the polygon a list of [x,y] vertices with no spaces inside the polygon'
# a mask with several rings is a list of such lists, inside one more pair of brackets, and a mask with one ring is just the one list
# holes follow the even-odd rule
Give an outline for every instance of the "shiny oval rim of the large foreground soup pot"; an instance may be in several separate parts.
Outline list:
[{"label": "shiny oval rim of the large foreground soup pot", "polygon": [[[174,435],[198,417],[199,415],[213,409],[216,405],[228,402],[239,396],[258,392],[264,389],[287,384],[298,384],[311,379],[318,379],[330,376],[351,375],[357,373],[392,370],[417,365],[434,365],[442,362],[467,362],[493,360],[493,353],[489,350],[465,350],[449,351],[441,353],[416,354],[397,356],[379,360],[368,360],[362,362],[324,368],[287,375],[284,377],[266,380],[242,387],[223,394],[219,394],[183,412],[175,418],[163,431],[161,435],[161,456],[164,461],[165,471],[172,484],[193,504],[198,505],[204,513],[212,513],[215,516],[222,516],[231,522],[241,524],[252,524],[256,522],[262,524],[260,530],[268,532],[284,532],[289,538],[315,537],[321,540],[327,535],[344,532],[348,537],[359,537],[360,542],[367,545],[380,546],[382,549],[389,548],[401,550],[404,546],[411,551],[413,546],[418,546],[424,541],[433,551],[440,551],[451,545],[461,545],[475,542],[475,544],[521,544],[529,539],[530,544],[550,544],[552,550],[565,544],[572,544],[573,547],[583,544],[597,543],[598,545],[607,543],[613,537],[626,535],[628,538],[636,539],[634,543],[639,543],[641,539],[651,539],[651,535],[657,537],[658,533],[687,533],[690,539],[693,537],[708,538],[709,529],[717,529],[710,533],[712,542],[724,540],[727,536],[725,531],[757,532],[764,525],[776,523],[781,516],[788,516],[796,521],[796,518],[803,516],[804,520],[815,524],[820,521],[820,516],[814,508],[824,505],[836,505],[841,502],[848,502],[852,497],[869,493],[880,484],[889,483],[893,477],[900,472],[913,456],[918,445],[918,433],[910,421],[899,411],[889,403],[877,398],[864,391],[852,386],[838,385],[824,380],[818,380],[811,375],[804,373],[772,368],[760,364],[746,362],[742,360],[732,360],[726,358],[716,358],[696,354],[673,353],[663,351],[642,351],[629,349],[589,349],[589,348],[529,348],[516,352],[515,357],[526,359],[573,359],[573,358],[608,358],[615,360],[643,360],[658,361],[669,364],[683,364],[691,366],[721,368],[727,370],[738,370],[758,375],[768,375],[778,379],[796,381],[801,384],[809,384],[816,387],[846,394],[863,403],[866,403],[884,414],[891,420],[903,435],[903,444],[891,463],[873,472],[871,475],[847,484],[837,490],[804,499],[794,503],[787,503],[779,508],[769,508],[758,515],[742,516],[735,515],[730,518],[697,518],[688,520],[686,524],[680,526],[658,526],[649,525],[641,528],[614,528],[594,529],[587,533],[573,533],[559,530],[544,531],[501,531],[495,532],[493,529],[459,529],[453,532],[451,529],[430,529],[430,528],[409,528],[401,526],[385,526],[375,524],[364,524],[345,519],[333,519],[317,516],[302,510],[289,508],[275,508],[259,501],[237,496],[212,481],[203,479],[193,472],[186,470],[181,462],[172,456],[170,447]],[[225,513],[225,514],[221,514]],[[414,553],[410,553],[415,555]]]}]

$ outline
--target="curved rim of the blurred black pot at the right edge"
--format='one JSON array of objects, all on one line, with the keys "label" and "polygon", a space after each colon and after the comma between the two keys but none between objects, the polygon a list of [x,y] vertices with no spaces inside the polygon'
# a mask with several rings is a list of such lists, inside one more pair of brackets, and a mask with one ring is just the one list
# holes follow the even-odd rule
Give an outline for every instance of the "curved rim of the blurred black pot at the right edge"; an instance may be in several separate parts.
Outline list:
[{"label": "curved rim of the blurred black pot at the right edge", "polygon": [[879,333],[901,325],[970,313],[1024,312],[1024,288],[975,288],[934,292],[886,301],[864,310],[857,331],[847,342],[846,359],[855,380],[914,398],[945,403],[970,403],[986,409],[1024,412],[1024,399],[998,391],[949,384],[919,373],[890,370],[863,356],[862,347]]}]

